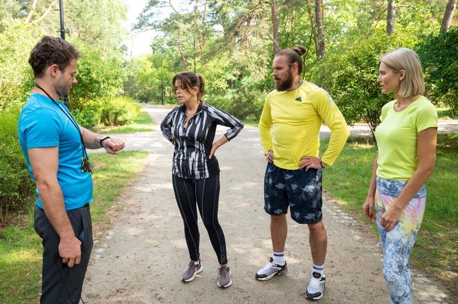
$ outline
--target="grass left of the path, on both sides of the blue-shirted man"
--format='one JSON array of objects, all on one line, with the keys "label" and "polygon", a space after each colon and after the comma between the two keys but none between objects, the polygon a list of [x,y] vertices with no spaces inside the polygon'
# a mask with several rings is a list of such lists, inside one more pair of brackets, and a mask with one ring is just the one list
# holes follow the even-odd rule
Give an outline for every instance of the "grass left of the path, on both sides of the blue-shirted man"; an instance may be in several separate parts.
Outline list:
[{"label": "grass left of the path, on both sides of the blue-shirted man", "polygon": [[[141,170],[146,152],[121,152],[117,156],[91,154],[94,164],[92,221],[105,214],[128,181]],[[31,204],[33,205],[33,204]],[[34,232],[33,207],[0,230],[0,303],[39,303],[41,288],[41,239]]]}]

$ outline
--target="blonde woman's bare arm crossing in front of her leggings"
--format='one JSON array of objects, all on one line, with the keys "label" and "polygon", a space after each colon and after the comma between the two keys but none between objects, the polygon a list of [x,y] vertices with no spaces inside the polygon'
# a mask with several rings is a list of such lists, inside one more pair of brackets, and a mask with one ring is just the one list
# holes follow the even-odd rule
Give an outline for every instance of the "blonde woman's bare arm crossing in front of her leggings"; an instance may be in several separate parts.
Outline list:
[{"label": "blonde woman's bare arm crossing in front of her leggings", "polygon": [[404,210],[404,207],[406,207],[431,175],[436,161],[436,140],[437,128],[428,128],[418,132],[418,168],[415,170],[396,201],[390,205],[390,209],[381,216],[380,225],[385,227],[386,231],[390,231],[392,227],[395,227],[401,211]]}]

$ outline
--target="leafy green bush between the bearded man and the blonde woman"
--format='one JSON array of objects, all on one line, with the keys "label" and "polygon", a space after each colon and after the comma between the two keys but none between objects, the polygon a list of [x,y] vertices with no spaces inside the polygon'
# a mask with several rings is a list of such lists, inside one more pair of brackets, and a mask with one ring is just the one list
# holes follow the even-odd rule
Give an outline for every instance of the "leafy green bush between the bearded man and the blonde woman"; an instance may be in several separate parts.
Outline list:
[{"label": "leafy green bush between the bearded man and the blonde woman", "polygon": [[344,45],[345,49],[331,48],[335,56],[326,57],[320,66],[325,72],[315,72],[317,83],[330,92],[347,123],[363,120],[374,132],[380,123],[381,108],[393,99],[393,95],[382,95],[377,83],[379,57],[401,46],[401,39],[397,34],[388,36],[382,30],[374,30]]}]

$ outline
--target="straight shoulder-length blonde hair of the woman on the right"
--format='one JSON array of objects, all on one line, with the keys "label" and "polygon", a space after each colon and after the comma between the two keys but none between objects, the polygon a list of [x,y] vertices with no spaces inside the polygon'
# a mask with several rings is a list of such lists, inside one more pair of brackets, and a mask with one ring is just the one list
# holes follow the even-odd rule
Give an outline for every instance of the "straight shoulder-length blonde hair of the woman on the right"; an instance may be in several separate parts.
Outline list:
[{"label": "straight shoulder-length blonde hair of the woman on the right", "polygon": [[397,48],[380,57],[380,62],[385,63],[395,73],[404,70],[406,77],[401,81],[399,97],[414,97],[423,95],[425,83],[421,63],[418,55],[410,48]]}]

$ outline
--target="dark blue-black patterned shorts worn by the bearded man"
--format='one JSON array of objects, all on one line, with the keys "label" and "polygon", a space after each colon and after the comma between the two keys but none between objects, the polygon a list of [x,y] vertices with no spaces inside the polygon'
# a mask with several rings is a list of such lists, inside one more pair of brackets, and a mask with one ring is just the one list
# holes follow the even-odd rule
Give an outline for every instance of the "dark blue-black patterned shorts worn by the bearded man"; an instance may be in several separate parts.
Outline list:
[{"label": "dark blue-black patterned shorts worn by the bearded man", "polygon": [[264,210],[271,215],[288,213],[299,224],[322,219],[321,169],[286,170],[268,163],[264,177]]}]

